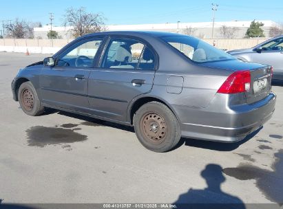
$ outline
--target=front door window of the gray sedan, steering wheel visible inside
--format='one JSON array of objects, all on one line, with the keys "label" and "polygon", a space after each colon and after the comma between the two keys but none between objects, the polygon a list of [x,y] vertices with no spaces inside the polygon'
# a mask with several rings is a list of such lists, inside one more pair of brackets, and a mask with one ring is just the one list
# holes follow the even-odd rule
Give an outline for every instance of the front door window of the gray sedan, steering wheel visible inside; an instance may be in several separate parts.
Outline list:
[{"label": "front door window of the gray sedan, steering wheel visible inside", "polygon": [[70,47],[57,58],[56,66],[92,67],[101,41],[102,39],[92,40]]}]

